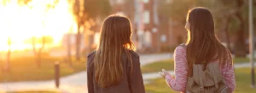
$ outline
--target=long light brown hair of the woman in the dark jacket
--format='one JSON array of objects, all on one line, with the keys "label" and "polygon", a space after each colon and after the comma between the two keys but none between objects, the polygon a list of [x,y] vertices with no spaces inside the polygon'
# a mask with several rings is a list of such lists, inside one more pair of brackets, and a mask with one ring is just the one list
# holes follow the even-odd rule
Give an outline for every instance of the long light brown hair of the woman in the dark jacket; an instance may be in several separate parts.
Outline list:
[{"label": "long light brown hair of the woman in the dark jacket", "polygon": [[123,78],[123,53],[131,63],[132,72],[129,50],[133,49],[130,19],[120,15],[110,15],[102,25],[100,44],[94,59],[95,78],[99,86],[105,88],[119,84]]}]

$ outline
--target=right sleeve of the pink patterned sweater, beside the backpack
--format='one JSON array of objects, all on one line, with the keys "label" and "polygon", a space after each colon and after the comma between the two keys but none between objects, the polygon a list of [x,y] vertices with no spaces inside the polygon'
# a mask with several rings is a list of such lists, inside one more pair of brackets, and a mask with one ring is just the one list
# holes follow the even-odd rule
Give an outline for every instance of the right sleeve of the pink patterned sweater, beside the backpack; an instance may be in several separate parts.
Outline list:
[{"label": "right sleeve of the pink patterned sweater, beside the backpack", "polygon": [[[229,60],[232,61],[232,60]],[[232,62],[231,62],[232,63]],[[222,74],[224,76],[224,79],[226,81],[226,85],[229,87],[230,92],[234,92],[236,88],[236,79],[235,79],[235,71],[234,71],[234,65],[232,64],[226,64],[222,68]]]}]

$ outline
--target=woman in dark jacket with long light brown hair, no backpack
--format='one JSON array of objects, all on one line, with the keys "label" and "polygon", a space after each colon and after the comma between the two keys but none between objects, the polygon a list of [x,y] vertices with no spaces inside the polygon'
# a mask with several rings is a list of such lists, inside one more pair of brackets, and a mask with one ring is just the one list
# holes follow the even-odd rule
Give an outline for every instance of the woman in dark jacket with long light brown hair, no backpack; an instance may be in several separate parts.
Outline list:
[{"label": "woman in dark jacket with long light brown hair, no backpack", "polygon": [[145,93],[133,49],[130,20],[119,15],[105,19],[100,44],[87,60],[88,93]]}]

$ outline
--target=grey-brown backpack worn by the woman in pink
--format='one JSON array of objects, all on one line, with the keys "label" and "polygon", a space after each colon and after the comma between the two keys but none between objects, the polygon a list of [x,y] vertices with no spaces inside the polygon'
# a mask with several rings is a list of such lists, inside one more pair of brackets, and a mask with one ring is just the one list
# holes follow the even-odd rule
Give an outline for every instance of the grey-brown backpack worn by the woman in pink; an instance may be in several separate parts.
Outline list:
[{"label": "grey-brown backpack worn by the woman in pink", "polygon": [[[181,45],[185,47],[185,45]],[[229,93],[218,63],[193,65],[193,75],[188,77],[186,93]]]}]

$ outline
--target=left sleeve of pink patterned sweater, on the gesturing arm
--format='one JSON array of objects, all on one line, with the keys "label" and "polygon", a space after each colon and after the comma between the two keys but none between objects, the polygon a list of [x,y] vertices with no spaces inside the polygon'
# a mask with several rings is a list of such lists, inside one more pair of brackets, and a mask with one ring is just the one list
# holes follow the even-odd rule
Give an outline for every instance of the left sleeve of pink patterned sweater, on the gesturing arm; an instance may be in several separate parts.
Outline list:
[{"label": "left sleeve of pink patterned sweater, on the gesturing arm", "polygon": [[166,75],[166,83],[172,90],[184,91],[187,84],[187,74],[188,74],[188,63],[186,59],[185,48],[177,47],[174,52],[174,70],[175,79],[171,75]]}]

